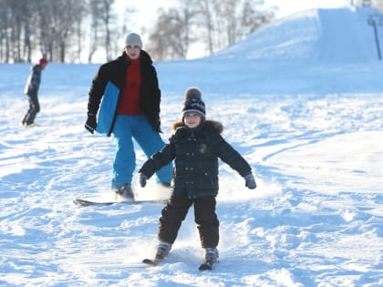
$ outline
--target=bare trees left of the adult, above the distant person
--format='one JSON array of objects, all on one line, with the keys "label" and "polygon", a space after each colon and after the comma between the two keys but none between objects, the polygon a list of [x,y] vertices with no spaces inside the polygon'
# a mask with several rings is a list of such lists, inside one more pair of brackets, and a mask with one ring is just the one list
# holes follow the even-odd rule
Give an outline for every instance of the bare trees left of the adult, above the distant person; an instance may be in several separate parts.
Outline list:
[{"label": "bare trees left of the adult, above the distant person", "polygon": [[[88,46],[88,62],[100,46],[113,53],[114,0],[0,0],[0,61],[76,62]],[[86,43],[88,41],[88,43]]]}]

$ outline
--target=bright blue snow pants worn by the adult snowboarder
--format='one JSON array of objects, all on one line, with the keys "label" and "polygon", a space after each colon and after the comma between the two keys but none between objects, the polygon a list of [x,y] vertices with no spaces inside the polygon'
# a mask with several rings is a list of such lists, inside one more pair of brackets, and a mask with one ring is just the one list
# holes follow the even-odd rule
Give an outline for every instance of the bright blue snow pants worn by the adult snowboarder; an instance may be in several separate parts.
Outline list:
[{"label": "bright blue snow pants worn by the adult snowboarder", "polygon": [[[140,145],[145,155],[149,158],[165,145],[160,133],[153,130],[148,118],[140,116],[119,115],[113,128],[116,142],[116,155],[113,162],[112,189],[119,189],[125,184],[130,184],[136,169],[136,153],[133,138]],[[169,164],[156,173],[160,182],[171,182],[172,164]]]}]

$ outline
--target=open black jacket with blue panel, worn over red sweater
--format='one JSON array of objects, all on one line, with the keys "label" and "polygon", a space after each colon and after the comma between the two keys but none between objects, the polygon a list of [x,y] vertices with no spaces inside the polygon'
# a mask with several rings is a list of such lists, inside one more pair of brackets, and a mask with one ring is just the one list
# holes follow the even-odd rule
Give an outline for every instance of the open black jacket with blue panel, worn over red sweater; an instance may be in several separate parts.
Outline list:
[{"label": "open black jacket with blue panel, worn over red sweater", "polygon": [[[98,114],[96,130],[108,137],[113,131],[117,117],[119,97],[125,87],[125,74],[129,63],[123,52],[116,60],[101,65],[89,90],[88,113]],[[140,51],[140,69],[140,105],[153,129],[160,131],[160,88],[157,72],[149,54],[143,50]]]}]

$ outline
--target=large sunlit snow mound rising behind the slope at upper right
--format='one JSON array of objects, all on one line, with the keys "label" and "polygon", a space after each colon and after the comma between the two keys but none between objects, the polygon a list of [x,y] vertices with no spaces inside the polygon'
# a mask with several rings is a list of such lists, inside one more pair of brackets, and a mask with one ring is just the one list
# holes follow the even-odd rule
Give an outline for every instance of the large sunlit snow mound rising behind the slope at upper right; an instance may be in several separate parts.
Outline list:
[{"label": "large sunlit snow mound rising behind the slope at upper right", "polygon": [[[216,56],[325,63],[378,60],[371,16],[383,15],[367,7],[307,10],[264,26]],[[383,45],[382,26],[378,36]]]}]

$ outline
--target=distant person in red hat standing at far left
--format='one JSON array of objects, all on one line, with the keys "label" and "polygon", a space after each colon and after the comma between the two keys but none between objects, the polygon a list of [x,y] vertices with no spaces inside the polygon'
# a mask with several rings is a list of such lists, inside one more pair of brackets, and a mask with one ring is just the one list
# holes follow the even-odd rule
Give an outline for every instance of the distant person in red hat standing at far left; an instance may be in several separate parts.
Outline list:
[{"label": "distant person in red hat standing at far left", "polygon": [[41,58],[38,64],[31,67],[31,72],[26,80],[25,94],[28,98],[29,109],[26,116],[23,118],[22,124],[24,127],[30,127],[34,124],[37,113],[40,111],[40,104],[38,103],[38,88],[41,82],[41,71],[47,67],[47,59]]}]

